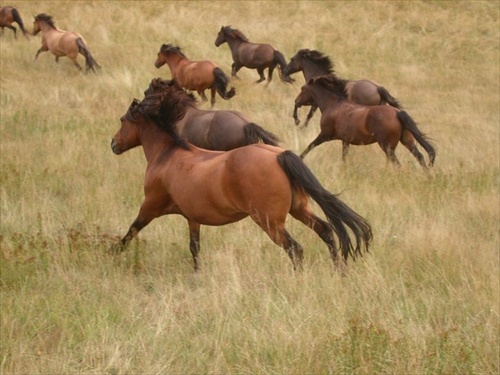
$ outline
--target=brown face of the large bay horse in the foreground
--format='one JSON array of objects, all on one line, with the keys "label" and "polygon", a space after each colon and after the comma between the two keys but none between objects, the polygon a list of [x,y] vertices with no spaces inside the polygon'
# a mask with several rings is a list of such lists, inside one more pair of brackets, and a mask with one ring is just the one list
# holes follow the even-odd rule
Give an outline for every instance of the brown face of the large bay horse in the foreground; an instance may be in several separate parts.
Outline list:
[{"label": "brown face of the large bay horse in the foreground", "polygon": [[[139,138],[139,101],[134,99],[125,115],[120,118],[120,130],[116,132],[111,140],[111,149],[116,155],[120,155],[131,148],[141,144]],[[141,116],[142,117],[142,116]]]}]

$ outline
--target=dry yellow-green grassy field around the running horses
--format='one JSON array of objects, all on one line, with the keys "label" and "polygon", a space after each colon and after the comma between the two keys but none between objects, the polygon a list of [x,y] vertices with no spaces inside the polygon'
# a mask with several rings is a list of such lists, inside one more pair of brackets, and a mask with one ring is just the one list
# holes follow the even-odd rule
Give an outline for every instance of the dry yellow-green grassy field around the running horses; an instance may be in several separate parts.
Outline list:
[{"label": "dry yellow-green grassy field around the running horses", "polygon": [[[7,5],[4,1],[1,5]],[[5,30],[0,37],[2,374],[498,374],[499,5],[491,2],[24,2],[82,33],[102,66],[79,72]],[[142,149],[110,141],[155,77],[162,43],[230,72],[222,25],[287,59],[320,50],[342,78],[383,84],[437,146],[426,176],[403,147],[340,142],[305,159],[373,226],[369,254],[334,272],[327,248],[289,220],[303,272],[251,221],[203,227],[195,273],[186,221],[152,222],[129,250]],[[79,60],[83,65],[83,59]],[[319,131],[291,117],[303,84],[265,87],[242,69],[237,109],[301,152]],[[208,108],[208,104],[201,104]],[[305,119],[306,111],[299,112]]]}]

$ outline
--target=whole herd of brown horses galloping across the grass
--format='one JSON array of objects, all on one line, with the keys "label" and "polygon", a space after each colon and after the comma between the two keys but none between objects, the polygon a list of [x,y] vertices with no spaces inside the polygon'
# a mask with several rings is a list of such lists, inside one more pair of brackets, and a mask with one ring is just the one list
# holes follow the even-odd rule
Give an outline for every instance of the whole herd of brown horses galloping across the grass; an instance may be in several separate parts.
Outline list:
[{"label": "whole herd of brown horses galloping across the grass", "polygon": [[[12,22],[28,34],[15,8],[0,8],[2,30],[8,27],[15,34]],[[83,37],[58,29],[51,16],[41,13],[34,17],[33,34],[38,32],[42,47],[35,57],[50,51],[56,61],[67,56],[81,69],[76,58],[82,54],[87,71],[100,67]],[[121,117],[121,127],[111,141],[115,154],[142,146],[147,160],[144,201],[113,252],[124,250],[153,219],[179,214],[188,223],[189,249],[197,270],[201,225],[225,225],[250,216],[283,247],[297,269],[302,266],[303,250],[285,227],[290,214],[325,242],[335,267],[342,271],[349,257],[368,251],[371,226],[326,190],[303,158],[321,143],[338,139],[343,145],[343,160],[349,145],[377,143],[388,161],[399,164],[395,149],[402,143],[427,171],[435,161],[434,146],[383,86],[367,79],[339,78],[331,60],[319,51],[301,49],[287,63],[271,45],[252,43],[230,26],[221,27],[214,42],[217,47],[223,43],[231,51],[232,78],[246,67],[257,70],[259,83],[266,80],[264,70],[268,69],[269,84],[278,68],[281,80],[292,83],[291,75],[302,71],[305,84],[295,99],[295,124],[300,123],[299,107],[311,106],[304,126],[319,108],[319,135],[297,156],[281,148],[275,134],[239,111],[199,108],[190,91],[207,101],[205,90],[209,89],[213,107],[216,93],[226,100],[235,95],[235,88],[228,87],[229,77],[212,61],[191,61],[180,47],[161,45],[155,66],[168,65],[171,79],[151,81],[144,98],[134,99]],[[417,143],[427,152],[428,163]],[[326,220],[314,213],[310,199],[322,209]]]}]

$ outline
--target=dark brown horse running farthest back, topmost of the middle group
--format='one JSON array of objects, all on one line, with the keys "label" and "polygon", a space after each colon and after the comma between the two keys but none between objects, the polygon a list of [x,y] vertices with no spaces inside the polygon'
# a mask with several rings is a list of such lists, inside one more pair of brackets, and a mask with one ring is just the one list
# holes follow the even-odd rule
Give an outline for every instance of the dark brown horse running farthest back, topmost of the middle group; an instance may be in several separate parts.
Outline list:
[{"label": "dark brown horse running farthest back, topmost of the middle group", "polygon": [[230,26],[222,26],[217,38],[215,46],[227,42],[233,56],[233,64],[231,74],[237,77],[236,73],[242,68],[257,69],[260,78],[256,83],[260,83],[266,79],[264,69],[268,68],[267,83],[273,79],[273,70],[279,66],[280,78],[283,82],[292,83],[295,80],[283,73],[286,66],[286,60],[283,54],[274,49],[269,44],[251,43],[247,37],[239,30],[232,29]]}]

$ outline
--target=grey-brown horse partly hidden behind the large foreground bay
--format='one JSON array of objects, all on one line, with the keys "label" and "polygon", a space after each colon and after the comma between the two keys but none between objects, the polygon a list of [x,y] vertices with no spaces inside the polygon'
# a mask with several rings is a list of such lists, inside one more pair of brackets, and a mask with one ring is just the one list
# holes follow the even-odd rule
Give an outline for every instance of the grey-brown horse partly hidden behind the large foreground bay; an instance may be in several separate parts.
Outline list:
[{"label": "grey-brown horse partly hidden behind the large foreground bay", "polygon": [[198,109],[194,96],[175,81],[153,79],[144,96],[156,105],[163,101],[177,103],[180,120],[173,125],[175,132],[200,148],[227,151],[259,142],[278,145],[278,137],[238,111]]}]

